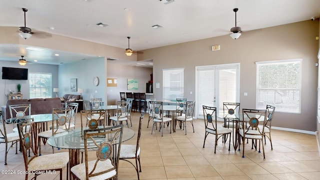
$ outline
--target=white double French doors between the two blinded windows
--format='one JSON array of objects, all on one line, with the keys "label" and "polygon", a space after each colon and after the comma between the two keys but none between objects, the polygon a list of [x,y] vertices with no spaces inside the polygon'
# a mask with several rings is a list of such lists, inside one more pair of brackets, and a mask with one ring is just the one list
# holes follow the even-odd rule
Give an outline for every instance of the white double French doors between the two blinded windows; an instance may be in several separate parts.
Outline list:
[{"label": "white double French doors between the two blinded windows", "polygon": [[223,102],[239,102],[240,64],[196,66],[196,117],[203,118],[202,105],[223,111]]}]

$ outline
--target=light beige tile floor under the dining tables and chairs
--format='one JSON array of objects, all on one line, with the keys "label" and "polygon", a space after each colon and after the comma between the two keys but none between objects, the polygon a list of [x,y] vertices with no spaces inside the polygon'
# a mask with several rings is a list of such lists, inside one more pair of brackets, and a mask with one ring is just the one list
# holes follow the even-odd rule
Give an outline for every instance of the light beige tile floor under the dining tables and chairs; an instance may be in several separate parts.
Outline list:
[{"label": "light beige tile floor under the dining tables and chairs", "polygon": [[[137,132],[138,113],[132,113],[132,129]],[[140,179],[320,179],[320,157],[315,135],[272,130],[273,150],[269,141],[266,142],[265,160],[262,153],[251,149],[251,144],[245,144],[245,157],[241,150],[228,151],[228,144],[218,140],[217,151],[214,154],[214,135],[209,134],[205,147],[204,122],[194,120],[194,133],[187,124],[187,134],[178,126],[175,133],[169,133],[169,128],[161,132],[156,130],[151,134],[152,122],[147,126],[148,115],[143,118],[141,133],[141,168]],[[80,125],[77,115],[76,126]],[[136,135],[123,143],[135,144]],[[232,143],[232,142],[231,142]],[[13,170],[15,174],[3,174],[2,179],[24,179],[17,174],[24,170],[21,153],[15,154],[14,149],[8,153],[4,165],[4,144],[0,145],[0,170]],[[56,150],[64,151],[65,149]],[[51,153],[49,145],[41,146],[43,154]],[[125,161],[119,163],[119,179],[137,179],[135,169]],[[63,179],[66,173],[63,171]],[[58,174],[44,174],[38,179],[59,179]]]}]

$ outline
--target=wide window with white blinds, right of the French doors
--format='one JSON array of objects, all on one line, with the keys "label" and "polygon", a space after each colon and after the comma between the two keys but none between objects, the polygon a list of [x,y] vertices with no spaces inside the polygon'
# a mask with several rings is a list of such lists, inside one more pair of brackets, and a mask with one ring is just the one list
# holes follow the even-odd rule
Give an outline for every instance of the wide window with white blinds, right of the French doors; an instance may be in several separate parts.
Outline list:
[{"label": "wide window with white blinds, right of the French doors", "polygon": [[269,104],[276,106],[276,111],[300,113],[301,61],[256,62],[256,108]]}]

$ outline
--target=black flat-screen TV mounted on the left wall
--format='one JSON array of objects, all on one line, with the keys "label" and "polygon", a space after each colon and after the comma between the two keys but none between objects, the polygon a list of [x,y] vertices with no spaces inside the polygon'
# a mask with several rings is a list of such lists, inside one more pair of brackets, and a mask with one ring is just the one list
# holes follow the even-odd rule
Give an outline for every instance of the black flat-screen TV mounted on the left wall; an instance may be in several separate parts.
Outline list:
[{"label": "black flat-screen TV mounted on the left wall", "polygon": [[2,67],[2,79],[27,80],[28,69],[15,67]]}]

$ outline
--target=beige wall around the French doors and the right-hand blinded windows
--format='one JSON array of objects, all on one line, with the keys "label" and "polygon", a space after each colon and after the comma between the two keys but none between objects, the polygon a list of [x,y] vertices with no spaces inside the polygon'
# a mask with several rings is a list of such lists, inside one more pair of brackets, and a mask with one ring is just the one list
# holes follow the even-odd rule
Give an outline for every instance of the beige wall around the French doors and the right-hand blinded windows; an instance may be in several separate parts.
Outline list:
[{"label": "beige wall around the French doors and the right-hand blinded windows", "polygon": [[[255,61],[302,58],[301,113],[275,112],[273,125],[316,130],[316,87],[319,21],[301,21],[252,31],[234,40],[229,35],[143,50],[138,59],[153,59],[154,96],[162,98],[162,69],[184,67],[184,95],[195,99],[195,66],[240,63],[240,108],[255,108]],[[169,35],[169,34],[168,34]],[[211,51],[212,45],[219,51]],[[248,92],[243,96],[243,92]]]}]

